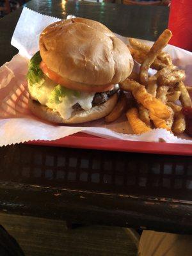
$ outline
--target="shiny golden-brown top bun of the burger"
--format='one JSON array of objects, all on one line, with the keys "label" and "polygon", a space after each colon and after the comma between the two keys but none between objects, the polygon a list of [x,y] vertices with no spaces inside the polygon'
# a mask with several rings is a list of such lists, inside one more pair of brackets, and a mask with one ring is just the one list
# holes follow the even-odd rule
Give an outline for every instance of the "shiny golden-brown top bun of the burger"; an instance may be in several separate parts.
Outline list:
[{"label": "shiny golden-brown top bun of the burger", "polygon": [[131,74],[127,46],[106,26],[74,18],[49,25],[40,35],[40,55],[62,77],[84,84],[116,84]]}]

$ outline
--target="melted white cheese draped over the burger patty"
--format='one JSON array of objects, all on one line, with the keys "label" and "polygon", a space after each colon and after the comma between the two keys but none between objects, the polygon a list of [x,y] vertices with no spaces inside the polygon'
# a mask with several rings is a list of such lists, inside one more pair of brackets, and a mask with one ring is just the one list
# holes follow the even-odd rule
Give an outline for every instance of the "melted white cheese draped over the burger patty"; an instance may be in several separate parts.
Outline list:
[{"label": "melted white cheese draped over the burger patty", "polygon": [[35,100],[38,100],[40,104],[47,106],[48,108],[53,109],[60,113],[62,118],[68,119],[72,115],[74,106],[76,103],[79,103],[81,108],[84,110],[89,110],[92,108],[92,101],[95,93],[86,93],[81,92],[78,97],[74,95],[66,95],[65,97],[60,97],[60,103],[56,104],[55,102],[50,102],[49,97],[51,96],[52,90],[56,87],[57,84],[52,82],[50,79],[42,79],[43,81],[40,84],[29,85],[29,93],[31,97]]}]

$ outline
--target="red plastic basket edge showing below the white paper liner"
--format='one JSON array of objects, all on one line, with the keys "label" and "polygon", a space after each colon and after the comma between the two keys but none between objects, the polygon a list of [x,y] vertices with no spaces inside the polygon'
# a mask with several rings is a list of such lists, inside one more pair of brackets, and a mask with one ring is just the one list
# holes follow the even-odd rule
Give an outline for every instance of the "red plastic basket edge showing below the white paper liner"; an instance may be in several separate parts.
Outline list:
[{"label": "red plastic basket edge showing below the white paper liner", "polygon": [[29,144],[44,145],[54,147],[70,147],[70,148],[90,148],[98,150],[113,150],[124,152],[138,152],[150,154],[168,154],[168,155],[192,155],[192,145],[175,144],[164,142],[143,142],[143,141],[127,141],[127,140],[111,140],[99,138],[77,132],[76,134],[67,136],[54,141],[29,141]]}]

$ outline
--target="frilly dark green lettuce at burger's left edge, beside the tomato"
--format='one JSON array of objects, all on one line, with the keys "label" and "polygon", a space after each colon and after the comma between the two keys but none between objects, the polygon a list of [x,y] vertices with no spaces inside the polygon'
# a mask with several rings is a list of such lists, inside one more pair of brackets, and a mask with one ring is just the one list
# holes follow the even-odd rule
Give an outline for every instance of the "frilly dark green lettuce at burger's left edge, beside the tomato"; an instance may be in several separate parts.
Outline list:
[{"label": "frilly dark green lettuce at burger's left edge, beside the tomato", "polygon": [[27,78],[31,85],[39,83],[42,77],[44,76],[42,70],[39,67],[41,61],[42,57],[40,56],[40,52],[38,51],[29,62]]}]

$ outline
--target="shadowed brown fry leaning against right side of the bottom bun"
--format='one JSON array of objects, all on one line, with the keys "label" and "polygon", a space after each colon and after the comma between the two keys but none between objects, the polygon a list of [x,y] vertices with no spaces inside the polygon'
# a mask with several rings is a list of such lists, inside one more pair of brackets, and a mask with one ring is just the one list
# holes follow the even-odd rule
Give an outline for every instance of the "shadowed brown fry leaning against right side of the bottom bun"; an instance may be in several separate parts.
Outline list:
[{"label": "shadowed brown fry leaning against right side of the bottom bun", "polygon": [[107,123],[111,123],[118,119],[127,109],[127,97],[124,92],[120,92],[120,96],[115,108],[105,117]]}]

